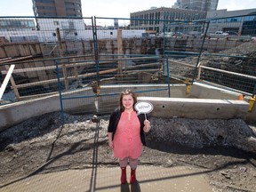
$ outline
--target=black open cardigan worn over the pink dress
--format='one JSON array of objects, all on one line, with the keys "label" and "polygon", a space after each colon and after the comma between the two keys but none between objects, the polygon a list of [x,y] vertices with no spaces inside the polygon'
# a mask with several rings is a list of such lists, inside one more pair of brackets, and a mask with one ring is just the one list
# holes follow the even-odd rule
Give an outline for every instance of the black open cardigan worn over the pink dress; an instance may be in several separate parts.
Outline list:
[{"label": "black open cardigan worn over the pink dress", "polygon": [[[119,123],[120,117],[121,117],[121,111],[120,111],[119,108],[117,108],[110,115],[109,124],[108,124],[108,132],[112,132],[113,133],[112,134],[112,140],[114,140],[114,135],[115,135],[115,132],[116,132],[116,127],[117,127],[117,124]],[[144,114],[140,114],[138,116],[138,118],[140,120],[140,140],[141,140],[142,144],[144,146],[146,146],[145,134],[144,134],[144,131],[143,131],[145,115]]]}]

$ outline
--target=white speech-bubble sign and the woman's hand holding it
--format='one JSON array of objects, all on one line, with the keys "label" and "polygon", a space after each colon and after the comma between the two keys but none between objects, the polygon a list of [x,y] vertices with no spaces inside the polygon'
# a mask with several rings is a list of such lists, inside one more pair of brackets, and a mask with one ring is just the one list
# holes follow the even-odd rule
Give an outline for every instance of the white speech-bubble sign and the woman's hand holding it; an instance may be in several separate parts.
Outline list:
[{"label": "white speech-bubble sign and the woman's hand holding it", "polygon": [[141,113],[145,114],[143,131],[149,132],[151,126],[150,126],[150,122],[147,119],[146,114],[150,113],[153,110],[153,105],[146,101],[140,101],[135,104],[134,108],[137,110],[138,115],[140,115]]}]

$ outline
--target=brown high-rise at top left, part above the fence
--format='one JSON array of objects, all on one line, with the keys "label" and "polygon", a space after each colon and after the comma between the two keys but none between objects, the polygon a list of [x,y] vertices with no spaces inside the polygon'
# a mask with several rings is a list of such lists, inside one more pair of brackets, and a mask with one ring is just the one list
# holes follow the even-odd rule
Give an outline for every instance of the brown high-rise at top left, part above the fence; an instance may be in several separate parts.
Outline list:
[{"label": "brown high-rise at top left, part above the fence", "polygon": [[32,0],[35,16],[82,17],[81,0]]}]

